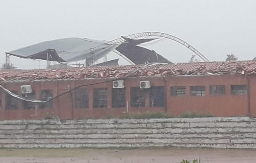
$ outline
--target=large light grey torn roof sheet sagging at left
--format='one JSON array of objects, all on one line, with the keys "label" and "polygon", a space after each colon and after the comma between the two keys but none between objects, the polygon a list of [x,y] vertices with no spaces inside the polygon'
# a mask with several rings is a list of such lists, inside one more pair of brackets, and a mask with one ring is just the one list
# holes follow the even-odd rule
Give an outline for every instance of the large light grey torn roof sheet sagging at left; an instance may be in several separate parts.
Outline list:
[{"label": "large light grey torn roof sheet sagging at left", "polygon": [[47,60],[47,53],[52,57],[50,61],[72,62],[87,59],[91,56],[90,48],[104,44],[104,41],[87,38],[64,38],[20,48],[7,54],[26,59]]}]

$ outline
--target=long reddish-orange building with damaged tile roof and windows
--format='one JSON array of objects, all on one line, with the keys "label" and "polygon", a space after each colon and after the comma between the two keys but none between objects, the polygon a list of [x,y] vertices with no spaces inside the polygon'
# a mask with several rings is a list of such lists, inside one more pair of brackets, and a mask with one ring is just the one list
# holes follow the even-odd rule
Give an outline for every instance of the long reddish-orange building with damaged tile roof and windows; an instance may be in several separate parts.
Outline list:
[{"label": "long reddish-orange building with damaged tile roof and windows", "polygon": [[[0,120],[42,119],[47,112],[60,119],[104,118],[127,110],[256,116],[255,73],[256,61],[1,71],[0,84],[11,92],[53,100],[27,102],[1,89]],[[31,85],[32,93],[22,94],[22,85]]]}]

